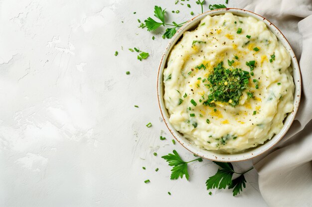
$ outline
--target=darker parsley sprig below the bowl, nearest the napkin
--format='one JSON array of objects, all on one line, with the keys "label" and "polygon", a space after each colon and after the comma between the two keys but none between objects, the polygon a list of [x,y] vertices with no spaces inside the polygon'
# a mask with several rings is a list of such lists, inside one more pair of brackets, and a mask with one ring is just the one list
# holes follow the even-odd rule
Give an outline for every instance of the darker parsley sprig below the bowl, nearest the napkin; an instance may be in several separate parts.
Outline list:
[{"label": "darker parsley sprig below the bowl, nearest the napkin", "polygon": [[[252,170],[253,167],[243,173],[238,173],[234,171],[233,165],[229,162],[213,162],[219,165],[221,169],[218,169],[215,175],[208,178],[206,181],[207,190],[213,188],[226,189],[228,187],[228,189],[233,189],[233,196],[236,196],[242,192],[243,188],[246,188],[247,181],[244,174]],[[232,180],[234,173],[240,174],[240,176]]]}]

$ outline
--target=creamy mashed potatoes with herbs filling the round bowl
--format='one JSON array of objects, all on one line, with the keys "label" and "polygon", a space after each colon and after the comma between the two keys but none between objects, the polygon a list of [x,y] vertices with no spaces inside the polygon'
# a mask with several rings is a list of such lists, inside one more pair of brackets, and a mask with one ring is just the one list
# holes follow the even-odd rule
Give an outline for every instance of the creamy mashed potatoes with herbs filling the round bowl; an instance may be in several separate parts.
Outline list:
[{"label": "creamy mashed potatoes with herbs filling the round bowl", "polygon": [[[245,77],[228,76],[234,70]],[[294,107],[290,54],[253,17],[206,16],[174,46],[163,77],[169,122],[207,150],[235,153],[263,144]]]}]

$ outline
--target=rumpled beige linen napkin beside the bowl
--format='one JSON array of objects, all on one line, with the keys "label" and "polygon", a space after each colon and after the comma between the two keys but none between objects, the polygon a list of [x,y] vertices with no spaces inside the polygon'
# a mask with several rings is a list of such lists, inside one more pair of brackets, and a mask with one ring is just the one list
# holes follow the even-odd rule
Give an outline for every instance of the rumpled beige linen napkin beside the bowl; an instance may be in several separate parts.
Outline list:
[{"label": "rumpled beige linen napkin beside the bowl", "polygon": [[300,62],[303,92],[287,135],[253,159],[259,188],[270,207],[312,207],[312,0],[237,0],[235,6],[273,22]]}]

